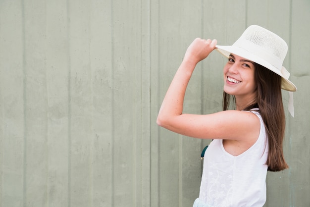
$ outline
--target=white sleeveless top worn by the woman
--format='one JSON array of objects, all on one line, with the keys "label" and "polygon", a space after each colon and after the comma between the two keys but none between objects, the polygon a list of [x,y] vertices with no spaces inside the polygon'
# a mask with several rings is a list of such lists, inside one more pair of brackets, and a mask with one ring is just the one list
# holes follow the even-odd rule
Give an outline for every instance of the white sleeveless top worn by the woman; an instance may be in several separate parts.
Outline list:
[{"label": "white sleeveless top worn by the woman", "polygon": [[258,140],[241,155],[233,156],[223,140],[213,140],[204,157],[199,198],[194,207],[262,207],[266,201],[265,165],[268,142],[261,116]]}]

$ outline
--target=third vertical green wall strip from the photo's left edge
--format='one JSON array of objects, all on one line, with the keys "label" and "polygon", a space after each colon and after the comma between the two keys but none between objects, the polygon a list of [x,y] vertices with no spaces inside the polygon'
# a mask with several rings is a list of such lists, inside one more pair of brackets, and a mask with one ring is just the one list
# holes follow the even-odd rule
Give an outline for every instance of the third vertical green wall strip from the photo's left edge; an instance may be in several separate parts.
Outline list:
[{"label": "third vertical green wall strip from the photo's left edge", "polygon": [[70,26],[67,11],[67,1],[46,2],[46,68],[43,70],[48,107],[46,206],[49,207],[70,206]]}]

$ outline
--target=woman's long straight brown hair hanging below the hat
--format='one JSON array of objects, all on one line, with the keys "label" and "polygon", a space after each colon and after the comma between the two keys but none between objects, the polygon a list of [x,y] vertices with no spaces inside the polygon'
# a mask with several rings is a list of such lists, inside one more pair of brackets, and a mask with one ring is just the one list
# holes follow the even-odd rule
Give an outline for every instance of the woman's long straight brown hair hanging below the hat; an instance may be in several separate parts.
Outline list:
[{"label": "woman's long straight brown hair hanging below the hat", "polygon": [[[257,100],[243,110],[259,108],[268,138],[268,171],[281,171],[288,168],[283,155],[285,131],[285,114],[282,102],[281,77],[271,70],[255,63],[255,80],[257,82]],[[234,96],[223,93],[223,110],[228,110],[230,99]],[[235,107],[235,105],[233,106]]]}]

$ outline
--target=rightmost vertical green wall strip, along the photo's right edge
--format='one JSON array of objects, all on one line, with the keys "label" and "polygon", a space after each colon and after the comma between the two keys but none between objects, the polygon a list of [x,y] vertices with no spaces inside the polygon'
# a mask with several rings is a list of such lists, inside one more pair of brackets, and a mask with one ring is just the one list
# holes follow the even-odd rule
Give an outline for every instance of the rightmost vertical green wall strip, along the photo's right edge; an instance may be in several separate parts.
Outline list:
[{"label": "rightmost vertical green wall strip, along the photo's right edge", "polygon": [[294,94],[295,118],[290,118],[287,143],[290,145],[289,175],[291,206],[310,206],[310,1],[291,1],[290,79],[298,91]]}]

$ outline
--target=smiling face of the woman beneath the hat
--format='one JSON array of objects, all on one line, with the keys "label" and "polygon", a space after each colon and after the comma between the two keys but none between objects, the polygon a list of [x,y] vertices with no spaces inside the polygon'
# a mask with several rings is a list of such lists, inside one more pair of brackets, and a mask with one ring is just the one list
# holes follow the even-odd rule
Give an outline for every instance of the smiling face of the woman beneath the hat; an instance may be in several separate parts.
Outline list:
[{"label": "smiling face of the woman beneath the hat", "polygon": [[256,97],[256,82],[254,78],[255,65],[235,54],[230,54],[224,66],[224,91],[234,95],[236,99]]}]

